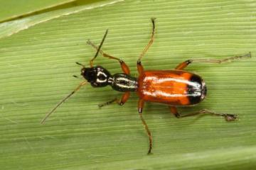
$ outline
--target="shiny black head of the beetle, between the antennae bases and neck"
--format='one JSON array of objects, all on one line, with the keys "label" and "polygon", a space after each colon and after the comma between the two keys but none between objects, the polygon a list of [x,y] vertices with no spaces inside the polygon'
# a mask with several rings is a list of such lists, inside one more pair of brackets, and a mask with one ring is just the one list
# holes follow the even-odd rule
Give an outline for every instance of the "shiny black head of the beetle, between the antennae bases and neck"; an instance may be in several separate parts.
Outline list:
[{"label": "shiny black head of the beetle, between the antennae bases and neck", "polygon": [[110,72],[107,69],[96,67],[83,67],[81,69],[81,75],[84,77],[93,87],[102,87],[110,84]]}]

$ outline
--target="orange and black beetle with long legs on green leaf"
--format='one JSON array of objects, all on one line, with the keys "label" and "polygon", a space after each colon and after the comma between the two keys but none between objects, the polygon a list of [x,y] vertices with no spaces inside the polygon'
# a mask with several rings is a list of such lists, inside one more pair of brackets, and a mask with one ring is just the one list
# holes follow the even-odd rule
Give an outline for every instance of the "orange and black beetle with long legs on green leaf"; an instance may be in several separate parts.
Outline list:
[{"label": "orange and black beetle with long legs on green leaf", "polygon": [[[127,64],[125,64],[123,60],[120,60],[117,57],[113,57],[112,55],[108,55],[101,50],[103,42],[105,41],[108,33],[108,30],[106,30],[105,35],[103,36],[99,46],[95,45],[90,40],[87,41],[88,45],[91,45],[93,48],[95,48],[95,50],[97,50],[95,56],[92,57],[92,60],[90,60],[90,67],[85,67],[85,65],[76,62],[82,67],[81,75],[85,79],[85,81],[82,81],[80,85],[71,92],[71,94],[63,98],[63,100],[60,101],[57,106],[55,106],[49,113],[47,113],[46,117],[41,120],[41,124],[45,123],[46,119],[50,116],[51,113],[55,111],[56,108],[58,108],[58,106],[60,106],[65,100],[75,94],[76,91],[78,91],[82,86],[87,83],[90,83],[91,86],[95,88],[112,86],[112,89],[114,89],[115,91],[124,92],[121,98],[114,98],[111,101],[100,104],[99,107],[107,106],[110,103],[117,103],[122,106],[129,99],[130,92],[133,91],[137,93],[137,95],[139,96],[139,117],[141,118],[146,133],[149,136],[148,154],[151,153],[153,138],[149,127],[142,116],[142,110],[144,108],[145,102],[164,103],[168,105],[171,113],[173,113],[176,118],[182,118],[198,114],[210,114],[222,116],[227,121],[235,120],[237,118],[237,115],[215,113],[213,111],[208,111],[207,109],[203,109],[196,113],[181,115],[178,112],[178,106],[194,106],[203,101],[207,94],[205,81],[198,74],[187,72],[184,69],[193,62],[210,62],[220,64],[231,60],[237,60],[243,57],[251,57],[250,52],[246,55],[228,57],[223,60],[186,60],[185,62],[181,62],[181,64],[178,64],[178,66],[173,70],[144,70],[144,67],[142,66],[142,57],[144,57],[147,50],[149,50],[149,47],[154,41],[155,18],[151,18],[151,23],[151,38],[146,47],[144,47],[144,50],[139,56],[139,59],[137,60],[137,70],[139,72],[139,77],[132,77],[130,75],[129,67],[127,66]],[[110,72],[104,67],[100,65],[94,66],[93,61],[96,59],[99,53],[103,57],[108,57],[111,60],[117,60],[120,64],[120,67],[122,68],[122,73],[110,74]]]}]

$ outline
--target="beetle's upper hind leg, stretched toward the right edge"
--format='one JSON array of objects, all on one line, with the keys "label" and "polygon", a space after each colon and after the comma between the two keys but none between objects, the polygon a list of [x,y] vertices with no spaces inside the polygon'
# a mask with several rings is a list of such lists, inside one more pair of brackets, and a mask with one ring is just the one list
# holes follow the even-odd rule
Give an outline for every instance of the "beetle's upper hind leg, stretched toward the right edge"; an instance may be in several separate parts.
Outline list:
[{"label": "beetle's upper hind leg, stretched toward the right edge", "polygon": [[186,60],[185,62],[181,62],[181,64],[178,64],[178,66],[175,69],[185,69],[188,64],[191,64],[192,62],[211,62],[211,63],[223,63],[223,62],[230,62],[232,60],[238,60],[245,57],[251,57],[251,53],[247,53],[245,55],[237,55],[234,57],[228,57],[223,60],[215,60],[215,59],[198,59],[198,60]]}]

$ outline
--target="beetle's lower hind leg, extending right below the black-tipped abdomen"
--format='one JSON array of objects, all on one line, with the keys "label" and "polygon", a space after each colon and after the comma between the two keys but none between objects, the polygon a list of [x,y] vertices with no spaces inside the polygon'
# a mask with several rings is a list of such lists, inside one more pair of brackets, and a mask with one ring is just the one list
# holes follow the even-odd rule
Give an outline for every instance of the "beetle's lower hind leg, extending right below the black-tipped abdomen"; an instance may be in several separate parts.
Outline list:
[{"label": "beetle's lower hind leg, extending right below the black-tipped abdomen", "polygon": [[178,113],[178,110],[175,106],[169,106],[171,113],[173,113],[176,118],[183,118],[183,117],[188,117],[188,116],[192,116],[192,115],[199,115],[199,114],[210,114],[210,115],[218,115],[218,116],[222,116],[225,118],[225,120],[227,121],[233,121],[237,118],[237,115],[232,115],[232,114],[225,114],[225,113],[215,113],[213,111],[209,111],[207,109],[203,109],[201,111],[198,111],[196,113],[188,113],[186,115],[180,115]]}]

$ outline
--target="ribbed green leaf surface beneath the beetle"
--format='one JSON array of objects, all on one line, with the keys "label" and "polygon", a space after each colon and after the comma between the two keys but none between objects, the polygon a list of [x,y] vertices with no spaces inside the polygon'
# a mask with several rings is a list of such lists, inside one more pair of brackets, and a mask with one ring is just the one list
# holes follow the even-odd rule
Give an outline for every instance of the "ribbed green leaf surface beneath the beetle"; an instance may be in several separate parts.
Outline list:
[{"label": "ribbed green leaf surface beneath the beetle", "polygon": [[[255,6],[249,0],[90,1],[0,23],[1,169],[255,168]],[[146,103],[143,114],[154,137],[154,154],[146,155],[148,137],[137,113],[137,94],[123,107],[100,109],[98,103],[122,93],[87,85],[40,125],[80,83],[72,77],[80,74],[75,62],[88,66],[95,54],[87,39],[100,43],[107,28],[102,50],[120,57],[137,76],[151,17],[157,18],[156,38],[142,59],[144,69],[173,69],[189,59],[251,52],[250,59],[194,63],[186,69],[206,80],[208,96],[179,111],[208,108],[235,113],[238,120],[227,123],[211,115],[177,119],[167,106]],[[105,57],[95,64],[121,72],[118,62]]]}]

